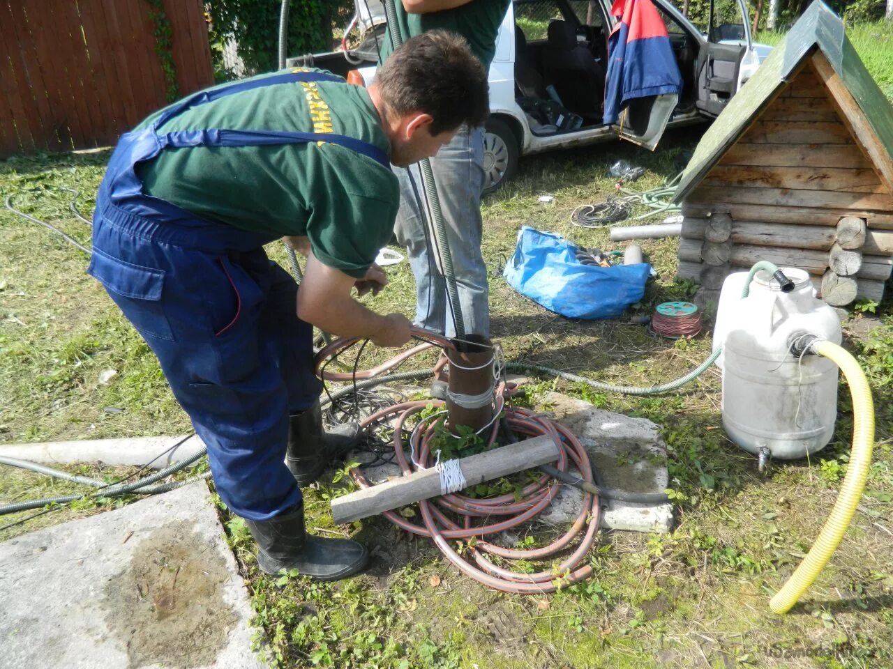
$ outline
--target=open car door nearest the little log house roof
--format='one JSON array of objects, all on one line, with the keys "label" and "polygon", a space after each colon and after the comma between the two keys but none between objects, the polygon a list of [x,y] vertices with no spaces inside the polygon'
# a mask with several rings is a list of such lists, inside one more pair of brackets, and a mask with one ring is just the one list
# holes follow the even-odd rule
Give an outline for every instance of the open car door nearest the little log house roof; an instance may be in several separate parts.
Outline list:
[{"label": "open car door nearest the little log house roof", "polygon": [[744,0],[710,0],[707,40],[697,56],[697,109],[719,116],[741,84],[741,64],[752,51]]}]

